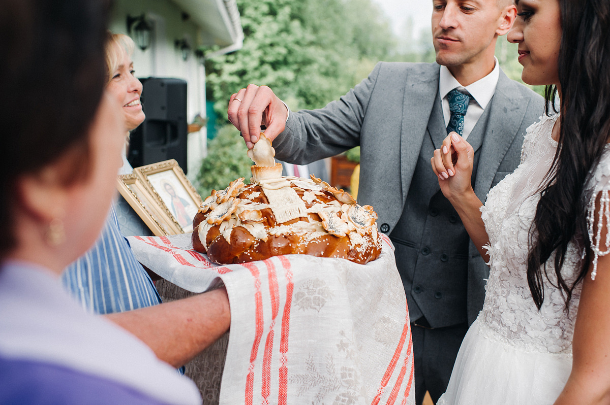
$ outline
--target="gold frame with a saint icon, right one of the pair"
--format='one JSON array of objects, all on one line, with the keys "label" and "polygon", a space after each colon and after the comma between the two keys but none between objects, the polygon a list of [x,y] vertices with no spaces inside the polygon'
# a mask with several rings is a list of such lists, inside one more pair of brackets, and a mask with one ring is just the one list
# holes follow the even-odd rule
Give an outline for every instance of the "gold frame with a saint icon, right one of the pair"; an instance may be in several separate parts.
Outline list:
[{"label": "gold frame with a saint icon, right one of the pair", "polygon": [[202,200],[176,160],[136,167],[134,174],[163,203],[181,233],[193,231],[193,218]]}]

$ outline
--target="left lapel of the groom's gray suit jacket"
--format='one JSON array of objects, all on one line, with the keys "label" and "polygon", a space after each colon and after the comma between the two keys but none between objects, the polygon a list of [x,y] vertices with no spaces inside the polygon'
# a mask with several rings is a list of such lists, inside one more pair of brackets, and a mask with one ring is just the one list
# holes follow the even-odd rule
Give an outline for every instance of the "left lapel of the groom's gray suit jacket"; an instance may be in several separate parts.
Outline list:
[{"label": "left lapel of the groom's gray suit jacket", "polygon": [[430,111],[439,93],[439,66],[419,65],[407,76],[401,123],[400,167],[403,202],[415,172]]}]

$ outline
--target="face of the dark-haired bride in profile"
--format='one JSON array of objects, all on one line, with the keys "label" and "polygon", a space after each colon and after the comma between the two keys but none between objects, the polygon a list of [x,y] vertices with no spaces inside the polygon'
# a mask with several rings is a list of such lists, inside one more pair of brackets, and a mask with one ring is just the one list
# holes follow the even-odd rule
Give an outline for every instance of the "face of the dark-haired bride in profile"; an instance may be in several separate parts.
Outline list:
[{"label": "face of the dark-haired bride in profile", "polygon": [[507,39],[519,44],[521,79],[529,85],[559,84],[561,12],[558,0],[518,0],[517,18]]}]

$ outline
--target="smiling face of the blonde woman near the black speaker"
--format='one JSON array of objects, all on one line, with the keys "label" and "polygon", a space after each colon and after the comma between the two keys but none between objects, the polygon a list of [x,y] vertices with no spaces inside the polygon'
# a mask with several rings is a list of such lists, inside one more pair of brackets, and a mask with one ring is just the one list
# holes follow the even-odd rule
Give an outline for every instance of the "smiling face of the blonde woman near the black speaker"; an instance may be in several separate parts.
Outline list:
[{"label": "smiling face of the blonde woman near the black speaker", "polygon": [[140,96],[142,83],[134,76],[134,62],[123,50],[117,69],[110,72],[110,82],[107,90],[123,106],[126,130],[131,131],[142,124],[146,116],[142,111]]}]

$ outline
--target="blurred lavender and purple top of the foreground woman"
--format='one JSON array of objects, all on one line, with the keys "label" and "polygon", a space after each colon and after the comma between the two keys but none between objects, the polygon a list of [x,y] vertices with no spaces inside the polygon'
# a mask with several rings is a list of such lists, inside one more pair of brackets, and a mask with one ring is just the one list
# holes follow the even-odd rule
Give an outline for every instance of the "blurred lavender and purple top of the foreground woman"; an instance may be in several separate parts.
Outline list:
[{"label": "blurred lavender and purple top of the foreground woman", "polygon": [[0,263],[0,405],[201,404],[199,390],[131,333],[88,314],[57,275]]}]

